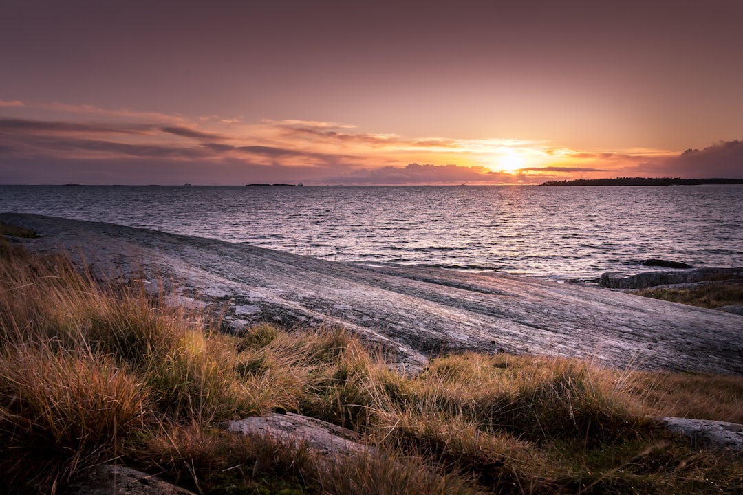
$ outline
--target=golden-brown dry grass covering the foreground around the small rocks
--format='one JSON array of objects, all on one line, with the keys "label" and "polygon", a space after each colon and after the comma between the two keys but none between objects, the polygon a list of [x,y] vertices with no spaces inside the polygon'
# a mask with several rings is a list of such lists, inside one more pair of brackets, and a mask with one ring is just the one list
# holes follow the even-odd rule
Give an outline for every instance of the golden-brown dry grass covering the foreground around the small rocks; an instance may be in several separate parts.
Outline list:
[{"label": "golden-brown dry grass covering the foreground around the small rocks", "polygon": [[[340,329],[235,337],[218,324],[65,260],[4,252],[0,490],[51,493],[114,461],[214,494],[743,491],[740,459],[694,452],[649,420],[738,421],[739,378],[473,353],[411,377]],[[350,427],[377,450],[328,464],[221,427],[271,410]]]}]

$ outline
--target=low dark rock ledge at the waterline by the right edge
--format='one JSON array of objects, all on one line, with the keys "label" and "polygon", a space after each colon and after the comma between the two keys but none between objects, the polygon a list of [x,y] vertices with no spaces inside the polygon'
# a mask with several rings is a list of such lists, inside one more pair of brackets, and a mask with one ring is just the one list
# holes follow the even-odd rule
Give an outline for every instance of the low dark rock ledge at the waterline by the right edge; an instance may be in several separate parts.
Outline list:
[{"label": "low dark rock ledge at the waterline by the right edge", "polygon": [[606,289],[647,289],[648,287],[699,283],[707,281],[743,282],[743,267],[738,268],[697,268],[684,272],[644,272],[625,275],[606,272],[601,275],[599,286]]}]

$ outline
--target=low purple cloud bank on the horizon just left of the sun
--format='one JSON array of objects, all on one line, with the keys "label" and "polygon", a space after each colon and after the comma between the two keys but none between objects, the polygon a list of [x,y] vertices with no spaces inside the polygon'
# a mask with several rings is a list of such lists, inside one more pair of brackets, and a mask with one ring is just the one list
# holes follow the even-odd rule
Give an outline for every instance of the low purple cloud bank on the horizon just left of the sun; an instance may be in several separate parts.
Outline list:
[{"label": "low purple cloud bank on the horizon just left of the sun", "polygon": [[405,167],[386,166],[382,168],[361,168],[322,177],[316,183],[337,184],[462,184],[462,183],[505,183],[512,182],[514,176],[493,172],[481,166],[432,165],[429,163],[409,163]]}]

